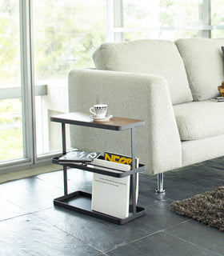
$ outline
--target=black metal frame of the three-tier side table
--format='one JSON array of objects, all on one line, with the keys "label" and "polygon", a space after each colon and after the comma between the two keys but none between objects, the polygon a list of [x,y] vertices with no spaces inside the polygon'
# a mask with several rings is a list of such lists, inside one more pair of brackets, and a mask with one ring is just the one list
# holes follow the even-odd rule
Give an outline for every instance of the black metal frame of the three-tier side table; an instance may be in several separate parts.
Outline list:
[{"label": "black metal frame of the three-tier side table", "polygon": [[[61,118],[63,117],[63,118]],[[124,118],[125,119],[125,118]],[[52,162],[60,164],[63,166],[63,179],[64,179],[64,195],[59,198],[54,199],[54,206],[61,206],[63,208],[74,210],[82,214],[87,214],[95,218],[101,218],[108,222],[113,222],[116,224],[125,224],[126,222],[132,221],[134,218],[138,218],[146,214],[146,210],[142,207],[136,206],[136,180],[137,173],[145,170],[145,166],[139,164],[139,167],[136,168],[135,159],[135,142],[134,142],[134,127],[143,126],[144,122],[133,122],[128,126],[107,126],[105,123],[100,122],[78,122],[78,120],[72,120],[70,118],[65,118],[63,115],[58,115],[50,118],[53,122],[62,122],[62,152],[66,154],[66,123],[79,126],[90,126],[99,129],[109,129],[109,130],[131,130],[131,158],[133,162],[132,170],[128,172],[118,171],[113,172],[113,169],[106,168],[107,170],[98,169],[97,166],[94,166],[92,163],[58,163],[58,158],[53,158]],[[139,120],[140,121],[140,120]],[[102,157],[101,157],[102,158]],[[94,166],[94,168],[93,168]],[[122,178],[130,175],[130,210],[129,216],[127,218],[116,218],[107,214],[102,214],[97,211],[91,210],[91,194],[83,191],[75,191],[68,194],[68,185],[67,185],[67,167],[72,167],[76,169],[86,170],[98,174],[104,174],[107,176],[113,176],[117,178]]]}]

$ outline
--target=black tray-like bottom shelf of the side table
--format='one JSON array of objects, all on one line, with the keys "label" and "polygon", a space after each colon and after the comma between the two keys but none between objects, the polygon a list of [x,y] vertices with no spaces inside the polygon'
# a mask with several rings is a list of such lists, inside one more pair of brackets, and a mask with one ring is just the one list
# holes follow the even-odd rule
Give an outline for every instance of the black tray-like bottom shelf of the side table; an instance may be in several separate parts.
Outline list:
[{"label": "black tray-like bottom shelf of the side table", "polygon": [[113,216],[102,214],[91,210],[91,197],[92,195],[83,191],[76,191],[70,194],[66,194],[60,198],[54,199],[54,206],[61,206],[68,210],[74,210],[78,213],[90,215],[95,218],[101,218],[108,222],[115,224],[125,224],[130,222],[135,218],[141,217],[146,214],[145,208],[136,206],[136,213],[130,213],[127,218],[115,218]]}]

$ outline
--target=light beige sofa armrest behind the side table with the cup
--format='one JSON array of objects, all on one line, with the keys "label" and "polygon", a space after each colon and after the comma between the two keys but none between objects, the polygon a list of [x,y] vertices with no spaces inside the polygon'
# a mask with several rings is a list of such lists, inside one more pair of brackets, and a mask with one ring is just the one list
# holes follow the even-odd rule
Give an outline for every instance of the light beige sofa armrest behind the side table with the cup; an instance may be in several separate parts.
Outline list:
[{"label": "light beige sofa armrest behind the side table with the cup", "polygon": [[[88,112],[108,104],[108,114],[146,122],[136,129],[136,156],[146,171],[157,174],[182,166],[182,148],[166,79],[150,74],[104,70],[72,70],[69,74],[70,112]],[[86,127],[71,130],[71,142],[82,150],[115,150],[130,154],[130,135]],[[108,142],[109,141],[109,142]],[[120,152],[118,152],[120,151]]]}]

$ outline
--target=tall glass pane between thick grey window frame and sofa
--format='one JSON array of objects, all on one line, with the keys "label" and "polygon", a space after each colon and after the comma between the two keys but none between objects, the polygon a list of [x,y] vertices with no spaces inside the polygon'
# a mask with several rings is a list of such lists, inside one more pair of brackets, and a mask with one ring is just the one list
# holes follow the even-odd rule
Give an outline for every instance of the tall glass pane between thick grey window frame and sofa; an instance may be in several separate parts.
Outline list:
[{"label": "tall glass pane between thick grey window frame and sofa", "polygon": [[105,40],[105,0],[34,0],[35,85],[47,85],[36,97],[38,155],[61,150],[61,127],[50,115],[68,111],[68,73],[93,67],[93,51]]}]

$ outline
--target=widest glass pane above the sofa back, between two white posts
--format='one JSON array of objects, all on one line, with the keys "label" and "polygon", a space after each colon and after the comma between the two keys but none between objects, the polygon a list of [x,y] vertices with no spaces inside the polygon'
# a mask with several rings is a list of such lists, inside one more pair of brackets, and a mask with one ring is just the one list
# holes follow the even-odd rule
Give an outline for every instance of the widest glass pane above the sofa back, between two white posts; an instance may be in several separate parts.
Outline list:
[{"label": "widest glass pane above the sofa back, between two white posts", "polygon": [[[147,8],[146,8],[147,6]],[[161,38],[174,40],[198,37],[198,31],[187,27],[198,26],[198,2],[194,0],[131,1],[124,0],[124,26],[141,28],[139,32],[124,33],[126,41],[132,38]]]}]

